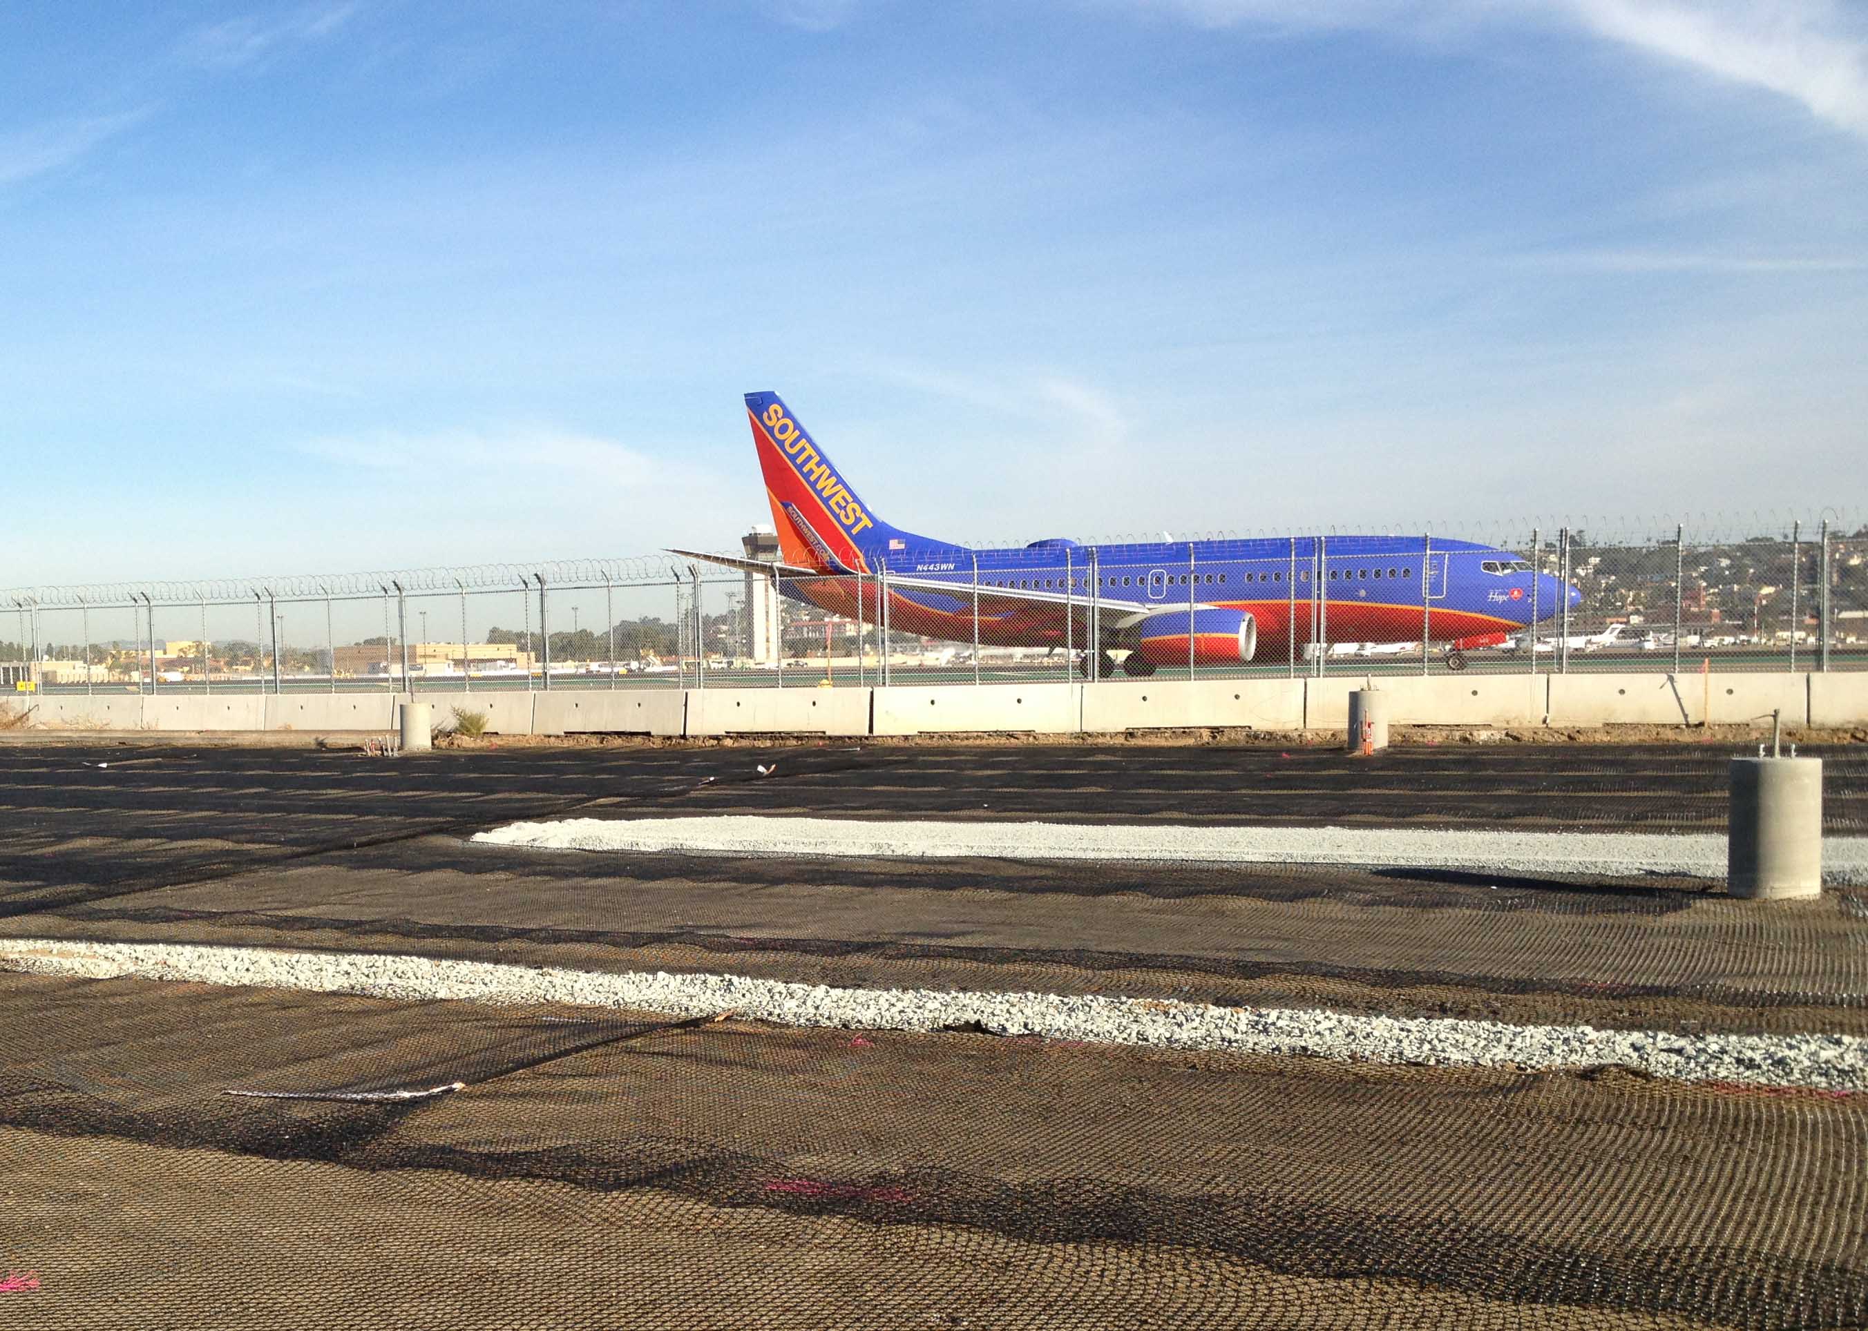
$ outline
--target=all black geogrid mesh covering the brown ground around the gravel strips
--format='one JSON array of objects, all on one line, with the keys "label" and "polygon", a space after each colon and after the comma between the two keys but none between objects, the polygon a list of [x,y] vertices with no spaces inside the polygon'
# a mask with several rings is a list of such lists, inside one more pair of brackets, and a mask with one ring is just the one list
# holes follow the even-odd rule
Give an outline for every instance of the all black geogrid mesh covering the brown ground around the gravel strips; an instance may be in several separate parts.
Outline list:
[{"label": "all black geogrid mesh covering the brown ground around the gravel strips", "polygon": [[[71,752],[4,754],[6,932],[1676,1029],[1862,1014],[1847,894],[1758,913],[1691,881],[818,872],[460,840],[588,801],[1304,821],[1403,788],[1442,825],[1705,827],[1705,752],[1468,752],[1461,775],[1438,754],[785,750],[758,780],[742,769],[770,752],[163,756],[161,782],[80,788]],[[1833,823],[1861,793],[1859,760],[1833,760]],[[1868,1320],[1855,1096],[131,980],[7,976],[0,1019],[0,1266],[39,1281],[0,1294],[19,1325]],[[409,1103],[220,1094],[450,1081]]]}]

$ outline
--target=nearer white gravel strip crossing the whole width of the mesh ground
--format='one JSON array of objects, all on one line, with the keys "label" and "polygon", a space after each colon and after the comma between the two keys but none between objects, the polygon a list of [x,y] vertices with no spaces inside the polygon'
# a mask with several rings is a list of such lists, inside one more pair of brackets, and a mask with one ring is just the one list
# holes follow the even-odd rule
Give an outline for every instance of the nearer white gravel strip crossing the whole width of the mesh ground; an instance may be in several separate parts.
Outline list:
[{"label": "nearer white gravel strip crossing the whole width of the mesh ground", "polygon": [[742,974],[566,971],[415,956],[166,943],[11,939],[0,941],[0,969],[364,993],[383,999],[560,1002],[672,1017],[730,1010],[740,1017],[794,1027],[940,1030],[979,1023],[1007,1036],[1091,1044],[1313,1055],[1442,1068],[1608,1064],[1676,1081],[1868,1088],[1868,1040],[1840,1034],[1687,1036],[1296,1008],[1218,1008],[1100,995],[833,989]]}]

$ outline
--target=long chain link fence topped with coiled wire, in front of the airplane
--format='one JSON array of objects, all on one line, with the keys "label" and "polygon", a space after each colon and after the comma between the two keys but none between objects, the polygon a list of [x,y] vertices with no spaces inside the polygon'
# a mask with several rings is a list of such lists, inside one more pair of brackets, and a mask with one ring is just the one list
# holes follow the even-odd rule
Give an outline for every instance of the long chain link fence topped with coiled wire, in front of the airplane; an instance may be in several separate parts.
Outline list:
[{"label": "long chain link fence topped with coiled wire, in front of the airplane", "polygon": [[854,575],[566,560],[15,588],[0,616],[15,693],[1846,670],[1868,666],[1868,528],[1042,541]]}]

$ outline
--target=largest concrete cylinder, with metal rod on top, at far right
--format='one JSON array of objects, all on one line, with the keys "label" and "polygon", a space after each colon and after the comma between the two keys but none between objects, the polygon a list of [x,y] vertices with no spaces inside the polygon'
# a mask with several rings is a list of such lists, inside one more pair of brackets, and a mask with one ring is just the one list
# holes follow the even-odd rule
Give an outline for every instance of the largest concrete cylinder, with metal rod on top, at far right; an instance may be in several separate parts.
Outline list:
[{"label": "largest concrete cylinder, with metal rod on top, at far right", "polygon": [[1821,894],[1821,758],[1732,760],[1726,890],[1758,902]]}]

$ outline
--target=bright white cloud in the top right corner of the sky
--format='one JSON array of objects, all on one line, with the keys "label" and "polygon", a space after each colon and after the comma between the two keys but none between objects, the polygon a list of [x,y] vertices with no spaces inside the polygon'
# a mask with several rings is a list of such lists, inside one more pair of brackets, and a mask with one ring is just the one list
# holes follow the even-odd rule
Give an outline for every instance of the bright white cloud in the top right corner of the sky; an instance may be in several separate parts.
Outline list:
[{"label": "bright white cloud in the top right corner of the sky", "polygon": [[[1110,0],[1117,2],[1117,0]],[[1765,88],[1868,136],[1868,9],[1838,0],[1126,0],[1205,26],[1379,28],[1438,37],[1502,22],[1558,22]]]}]

